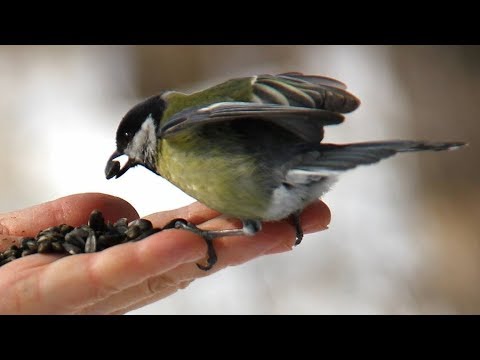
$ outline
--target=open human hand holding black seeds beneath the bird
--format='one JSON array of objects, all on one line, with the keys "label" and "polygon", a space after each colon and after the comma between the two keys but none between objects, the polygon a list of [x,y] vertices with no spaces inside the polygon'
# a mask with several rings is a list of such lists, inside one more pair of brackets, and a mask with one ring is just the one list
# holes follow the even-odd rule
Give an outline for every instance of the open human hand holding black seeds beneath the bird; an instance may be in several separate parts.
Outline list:
[{"label": "open human hand holding black seeds beneath the bird", "polygon": [[[125,200],[105,194],[71,195],[28,209],[0,214],[0,251],[23,236],[62,223],[79,226],[98,209],[105,220],[138,218]],[[241,227],[200,203],[149,215],[154,227],[184,218],[202,229]],[[305,233],[321,231],[330,211],[321,201],[301,216]],[[0,267],[0,314],[124,314],[183,289],[193,280],[256,257],[291,250],[294,227],[287,221],[265,223],[254,237],[228,237],[214,241],[218,262],[202,271],[196,263],[206,258],[206,244],[184,230],[163,230],[139,242],[101,252],[64,256],[34,254]]]}]

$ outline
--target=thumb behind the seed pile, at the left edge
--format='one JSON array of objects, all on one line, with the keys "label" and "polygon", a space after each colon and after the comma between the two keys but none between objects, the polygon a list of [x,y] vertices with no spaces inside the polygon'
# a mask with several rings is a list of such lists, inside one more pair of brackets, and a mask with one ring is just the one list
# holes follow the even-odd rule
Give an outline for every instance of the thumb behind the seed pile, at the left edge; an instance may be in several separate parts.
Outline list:
[{"label": "thumb behind the seed pile, at the left edge", "polygon": [[98,209],[108,221],[120,217],[138,218],[127,201],[111,195],[85,193],[66,196],[44,204],[0,215],[0,235],[35,236],[50,226],[86,224],[92,210]]}]

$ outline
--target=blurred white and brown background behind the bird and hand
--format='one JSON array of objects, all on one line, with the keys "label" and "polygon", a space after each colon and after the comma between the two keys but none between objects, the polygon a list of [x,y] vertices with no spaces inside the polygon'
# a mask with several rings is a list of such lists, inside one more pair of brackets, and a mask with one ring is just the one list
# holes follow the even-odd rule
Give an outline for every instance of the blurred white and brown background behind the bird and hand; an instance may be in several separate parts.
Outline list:
[{"label": "blurred white and brown background behind the bird and hand", "polygon": [[1,46],[0,212],[80,192],[141,216],[189,204],[141,167],[105,179],[122,116],[160,90],[287,71],[338,78],[362,100],[327,142],[470,146],[357,168],[324,198],[327,231],[133,313],[479,313],[479,46]]}]

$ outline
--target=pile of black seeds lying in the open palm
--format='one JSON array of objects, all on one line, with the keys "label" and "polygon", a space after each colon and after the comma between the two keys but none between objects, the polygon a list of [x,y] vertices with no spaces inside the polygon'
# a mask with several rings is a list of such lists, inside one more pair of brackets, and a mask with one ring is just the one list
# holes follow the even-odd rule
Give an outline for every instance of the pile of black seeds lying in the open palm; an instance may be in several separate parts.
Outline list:
[{"label": "pile of black seeds lying in the open palm", "polygon": [[105,222],[100,211],[93,210],[87,225],[74,228],[62,224],[42,230],[34,238],[22,238],[20,246],[12,245],[0,253],[0,266],[35,253],[75,255],[102,251],[118,244],[142,240],[160,230],[146,219],[127,223],[126,218],[121,218],[111,224]]}]

